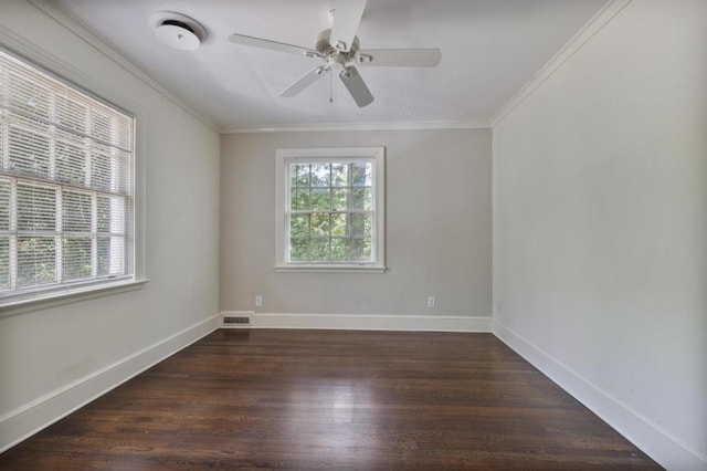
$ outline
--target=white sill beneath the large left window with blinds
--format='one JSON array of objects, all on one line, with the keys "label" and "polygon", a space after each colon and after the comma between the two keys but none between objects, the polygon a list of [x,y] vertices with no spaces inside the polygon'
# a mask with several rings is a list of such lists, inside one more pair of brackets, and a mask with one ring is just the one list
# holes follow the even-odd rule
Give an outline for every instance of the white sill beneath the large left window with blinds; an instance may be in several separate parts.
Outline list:
[{"label": "white sill beneath the large left window with blinds", "polygon": [[139,290],[147,282],[149,282],[148,279],[120,280],[113,283],[99,283],[83,287],[74,287],[70,291],[44,292],[34,293],[33,295],[8,297],[0,301],[0,317]]}]

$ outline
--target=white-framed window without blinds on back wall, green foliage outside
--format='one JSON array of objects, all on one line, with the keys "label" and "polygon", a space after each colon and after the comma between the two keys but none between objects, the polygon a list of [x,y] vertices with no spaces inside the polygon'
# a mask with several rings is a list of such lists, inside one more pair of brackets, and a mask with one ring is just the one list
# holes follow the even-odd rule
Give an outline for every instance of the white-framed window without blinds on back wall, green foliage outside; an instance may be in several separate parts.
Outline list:
[{"label": "white-framed window without blinds on back wall, green foliage outside", "polygon": [[278,149],[278,270],[384,271],[382,147]]}]

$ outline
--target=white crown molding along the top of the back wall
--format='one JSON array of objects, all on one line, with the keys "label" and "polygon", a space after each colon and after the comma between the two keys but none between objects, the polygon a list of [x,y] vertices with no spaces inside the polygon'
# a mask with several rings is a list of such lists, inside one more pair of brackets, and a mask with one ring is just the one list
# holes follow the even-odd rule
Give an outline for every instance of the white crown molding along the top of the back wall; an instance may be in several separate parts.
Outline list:
[{"label": "white crown molding along the top of the back wall", "polygon": [[257,126],[226,126],[221,134],[249,133],[307,133],[329,130],[414,130],[414,129],[487,129],[490,122],[401,122],[401,123],[316,123],[316,124],[278,124]]}]

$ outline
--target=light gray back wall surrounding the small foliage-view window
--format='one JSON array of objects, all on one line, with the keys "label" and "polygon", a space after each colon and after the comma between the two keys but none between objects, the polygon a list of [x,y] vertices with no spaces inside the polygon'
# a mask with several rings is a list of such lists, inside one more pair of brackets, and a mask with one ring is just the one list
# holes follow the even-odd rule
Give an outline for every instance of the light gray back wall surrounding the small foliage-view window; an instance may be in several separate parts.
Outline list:
[{"label": "light gray back wall surrounding the small foliage-view window", "polygon": [[[222,135],[221,143],[222,311],[251,311],[255,294],[261,294],[258,313],[482,316],[488,328],[489,129],[232,134]],[[380,145],[387,151],[389,271],[275,272],[275,149]],[[435,308],[426,307],[428,295],[436,296]],[[279,321],[315,327],[412,325],[395,320],[387,325],[336,320],[292,324],[293,318]],[[425,325],[455,328],[432,322]]]}]

